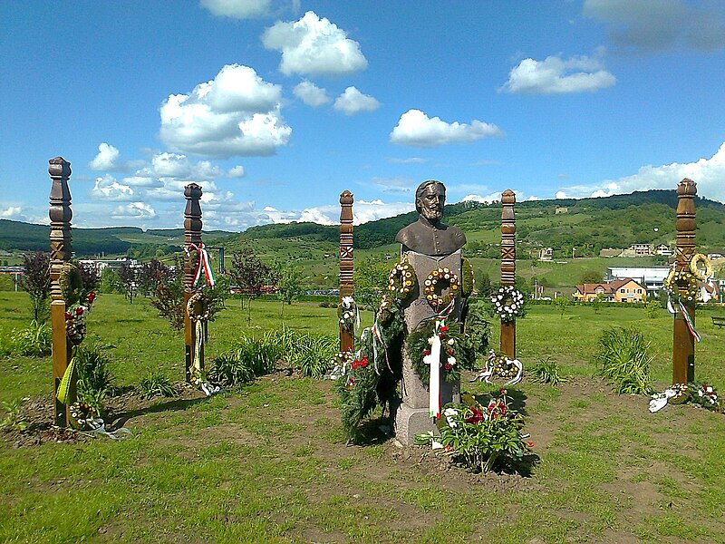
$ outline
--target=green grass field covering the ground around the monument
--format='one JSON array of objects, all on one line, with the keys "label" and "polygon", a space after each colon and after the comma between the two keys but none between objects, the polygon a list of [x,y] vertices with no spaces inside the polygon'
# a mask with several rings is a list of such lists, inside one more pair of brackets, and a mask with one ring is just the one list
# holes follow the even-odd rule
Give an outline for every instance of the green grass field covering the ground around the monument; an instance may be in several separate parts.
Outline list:
[{"label": "green grass field covering the ground around the monument", "polygon": [[[278,302],[253,302],[251,327],[238,302],[227,306],[209,327],[209,358],[241,333],[283,325]],[[698,316],[696,376],[725,387],[725,331],[708,316]],[[29,319],[23,293],[0,293],[0,335]],[[285,306],[285,326],[333,333],[336,323],[334,308]],[[526,476],[469,474],[380,433],[346,446],[329,382],[273,374],[130,411],[122,442],[0,441],[0,541],[725,542],[725,417],[689,405],[651,414],[646,397],[611,393],[589,359],[612,325],[643,331],[655,385],[668,384],[664,311],[648,319],[641,308],[572,307],[559,316],[531,306],[518,321],[525,368],[550,356],[570,377],[509,388],[535,444]],[[181,334],[146,300],[101,296],[88,327],[87,341],[115,346],[118,384],[159,368],[182,378]],[[50,376],[49,358],[2,358],[0,401],[48,398]]]}]

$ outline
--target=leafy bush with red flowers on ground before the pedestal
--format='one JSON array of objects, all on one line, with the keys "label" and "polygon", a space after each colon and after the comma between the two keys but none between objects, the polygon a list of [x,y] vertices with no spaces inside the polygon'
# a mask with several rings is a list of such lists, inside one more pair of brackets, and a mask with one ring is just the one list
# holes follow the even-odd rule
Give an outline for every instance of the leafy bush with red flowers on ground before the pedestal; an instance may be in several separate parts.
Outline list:
[{"label": "leafy bush with red flowers on ground before the pedestal", "polygon": [[488,404],[478,403],[471,394],[463,403],[447,404],[433,432],[415,437],[418,445],[431,444],[436,452],[462,462],[470,471],[492,471],[496,465],[521,461],[531,447],[521,431],[524,418],[512,410],[507,390],[492,394]]}]

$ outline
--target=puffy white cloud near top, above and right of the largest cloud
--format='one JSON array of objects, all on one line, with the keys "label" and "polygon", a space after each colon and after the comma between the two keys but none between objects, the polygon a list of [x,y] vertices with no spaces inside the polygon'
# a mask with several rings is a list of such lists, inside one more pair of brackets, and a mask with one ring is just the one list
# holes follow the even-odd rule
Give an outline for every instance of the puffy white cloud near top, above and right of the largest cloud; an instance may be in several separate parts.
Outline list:
[{"label": "puffy white cloud near top, above and right of the largest cloud", "polygon": [[279,21],[266,29],[262,44],[282,52],[279,69],[290,75],[340,75],[367,68],[360,44],[328,19],[308,11],[291,23]]}]

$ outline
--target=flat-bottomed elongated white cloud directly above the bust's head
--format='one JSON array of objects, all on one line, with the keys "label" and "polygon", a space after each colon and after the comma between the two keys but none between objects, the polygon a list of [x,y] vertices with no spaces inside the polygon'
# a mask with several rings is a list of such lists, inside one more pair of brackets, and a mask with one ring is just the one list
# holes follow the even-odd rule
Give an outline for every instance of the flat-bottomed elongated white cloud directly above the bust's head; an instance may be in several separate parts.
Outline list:
[{"label": "flat-bottomed elongated white cloud directly above the bust's head", "polygon": [[449,143],[477,141],[488,136],[500,136],[495,125],[474,119],[470,123],[441,121],[430,118],[420,110],[409,110],[401,115],[391,132],[391,143],[418,147],[434,147]]}]

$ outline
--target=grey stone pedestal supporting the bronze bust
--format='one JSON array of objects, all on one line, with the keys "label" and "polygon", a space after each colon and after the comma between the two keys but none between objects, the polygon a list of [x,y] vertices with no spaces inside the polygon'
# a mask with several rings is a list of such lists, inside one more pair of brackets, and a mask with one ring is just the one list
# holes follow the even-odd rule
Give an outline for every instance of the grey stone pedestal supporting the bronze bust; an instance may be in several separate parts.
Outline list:
[{"label": "grey stone pedestal supporting the bronze bust", "polygon": [[[420,322],[427,317],[435,316],[436,312],[422,297],[422,283],[425,278],[438,267],[449,267],[450,270],[461,279],[461,256],[460,250],[445,257],[430,257],[409,251],[403,255],[415,270],[418,277],[419,287],[415,292],[415,297],[411,303],[405,308],[405,326],[406,330],[411,333]],[[459,292],[461,287],[459,287]],[[443,293],[447,296],[447,293]],[[460,316],[460,296],[456,298],[456,306],[447,319],[449,327],[459,320]],[[442,309],[442,308],[440,308]],[[422,382],[418,374],[412,368],[411,357],[405,346],[402,351],[402,380],[401,380],[401,405],[395,413],[395,437],[398,442],[404,445],[413,443],[415,435],[420,432],[429,432],[435,429],[435,424],[429,415],[429,391],[428,387]],[[460,384],[449,384],[448,382],[440,382],[440,404],[460,402]]]}]

